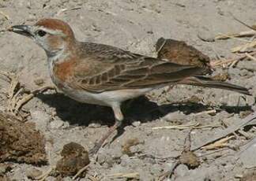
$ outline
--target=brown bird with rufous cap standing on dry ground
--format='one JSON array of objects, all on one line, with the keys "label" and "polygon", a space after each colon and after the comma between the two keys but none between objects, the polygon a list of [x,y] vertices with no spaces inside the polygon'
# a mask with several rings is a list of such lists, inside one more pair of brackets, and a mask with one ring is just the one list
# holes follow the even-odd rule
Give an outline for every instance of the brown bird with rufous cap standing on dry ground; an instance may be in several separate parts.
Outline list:
[{"label": "brown bird with rufous cap standing on dry ground", "polygon": [[[59,90],[77,102],[111,107],[115,124],[89,153],[97,153],[108,137],[120,127],[121,105],[151,90],[176,84],[216,87],[250,94],[245,87],[209,81],[205,68],[134,54],[115,46],[80,42],[62,20],[44,18],[36,24],[14,25],[9,31],[24,35],[45,50],[51,79]],[[205,83],[206,82],[206,83]]]}]

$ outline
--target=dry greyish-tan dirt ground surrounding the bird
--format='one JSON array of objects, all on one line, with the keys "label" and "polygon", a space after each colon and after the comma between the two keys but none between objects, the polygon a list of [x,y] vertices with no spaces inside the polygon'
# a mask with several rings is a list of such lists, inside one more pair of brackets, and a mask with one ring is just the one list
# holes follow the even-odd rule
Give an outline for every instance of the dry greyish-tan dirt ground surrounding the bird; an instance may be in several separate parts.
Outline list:
[{"label": "dry greyish-tan dirt ground surrounding the bird", "polygon": [[[247,24],[255,24],[255,8],[254,0],[4,0],[0,1],[0,71],[18,75],[25,90],[51,85],[43,50],[30,39],[2,31],[14,24],[34,24],[43,17],[65,20],[81,41],[119,46],[138,54],[156,57],[156,40],[164,37],[184,41],[212,59],[216,55],[235,57],[231,49],[245,42],[240,39],[204,42],[198,35],[211,37],[219,33],[248,31],[230,13]],[[250,88],[253,96],[179,85],[171,90],[154,90],[134,102],[127,102],[123,105],[126,116],[123,131],[100,150],[96,162],[90,158],[92,162],[86,170],[86,177],[80,180],[92,177],[127,180],[129,176],[134,180],[160,178],[179,160],[189,133],[191,146],[201,145],[227,127],[238,124],[256,109],[255,70],[255,61],[243,60],[235,67],[219,67],[213,72],[213,76],[228,73],[228,82]],[[5,76],[0,77],[0,109],[6,110],[9,82]],[[81,104],[53,90],[26,102],[22,112],[28,113],[27,121],[35,123],[46,139],[48,164],[35,166],[13,162],[11,171],[2,178],[30,180],[29,169],[47,172],[62,158],[64,145],[76,142],[89,150],[104,135],[107,127],[114,124],[111,109]],[[183,124],[208,127],[152,129]],[[235,133],[224,147],[194,151],[200,165],[189,168],[186,164],[179,164],[170,180],[247,178],[250,176],[247,170],[256,166],[255,146],[249,146],[243,153],[239,153],[239,148],[254,137],[254,127],[246,127]],[[127,140],[137,142],[130,144]],[[122,150],[124,146],[127,148],[125,152]],[[49,175],[46,180],[55,180],[55,175]]]}]

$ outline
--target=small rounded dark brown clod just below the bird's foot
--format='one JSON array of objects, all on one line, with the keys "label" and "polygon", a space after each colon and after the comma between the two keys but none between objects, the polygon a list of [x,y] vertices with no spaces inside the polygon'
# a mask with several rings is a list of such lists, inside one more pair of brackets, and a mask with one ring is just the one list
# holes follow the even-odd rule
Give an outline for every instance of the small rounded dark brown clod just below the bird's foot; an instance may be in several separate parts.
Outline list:
[{"label": "small rounded dark brown clod just below the bird's foot", "polygon": [[[61,155],[62,159],[57,162],[56,171],[63,177],[75,175],[90,163],[88,151],[76,142],[70,142],[63,146]],[[81,176],[85,176],[85,172]]]}]

